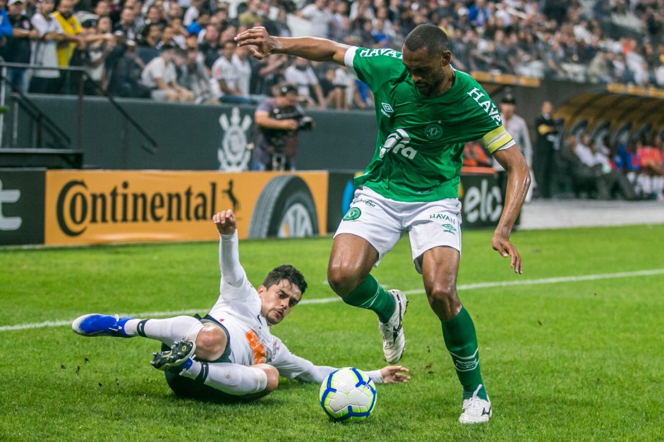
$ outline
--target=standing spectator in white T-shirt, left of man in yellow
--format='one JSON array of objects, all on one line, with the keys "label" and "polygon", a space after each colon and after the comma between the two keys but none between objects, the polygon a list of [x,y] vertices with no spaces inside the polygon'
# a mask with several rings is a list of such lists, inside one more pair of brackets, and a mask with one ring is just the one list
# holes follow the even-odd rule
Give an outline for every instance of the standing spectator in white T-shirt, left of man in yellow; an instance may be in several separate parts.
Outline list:
[{"label": "standing spectator in white T-shirt, left of man in yellow", "polygon": [[[0,0],[1,4],[1,0]],[[53,18],[53,0],[41,0],[37,4],[38,13],[30,18],[30,23],[37,31],[37,40],[32,42],[32,59],[30,62],[44,68],[58,67],[56,44],[63,39],[62,28]],[[28,92],[34,94],[56,94],[60,90],[60,73],[58,70],[35,69],[32,71]]]}]

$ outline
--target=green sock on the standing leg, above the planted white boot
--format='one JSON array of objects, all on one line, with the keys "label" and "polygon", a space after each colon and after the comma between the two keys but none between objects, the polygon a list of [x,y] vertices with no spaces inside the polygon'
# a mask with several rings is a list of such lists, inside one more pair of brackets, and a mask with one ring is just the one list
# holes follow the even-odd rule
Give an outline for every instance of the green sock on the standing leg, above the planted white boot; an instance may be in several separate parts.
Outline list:
[{"label": "green sock on the standing leg, above the planted white boot", "polygon": [[487,399],[486,390],[480,373],[480,357],[475,334],[475,324],[468,311],[461,307],[461,312],[452,319],[442,321],[442,337],[452,356],[454,368],[461,385],[464,386],[464,399],[471,398],[477,387],[482,384],[478,396]]}]

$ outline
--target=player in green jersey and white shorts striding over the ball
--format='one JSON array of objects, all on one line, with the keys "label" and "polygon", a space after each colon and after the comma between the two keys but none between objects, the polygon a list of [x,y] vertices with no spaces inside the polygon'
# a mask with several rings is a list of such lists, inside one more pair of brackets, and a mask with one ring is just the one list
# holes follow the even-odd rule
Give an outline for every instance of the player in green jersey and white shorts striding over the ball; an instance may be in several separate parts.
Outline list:
[{"label": "player in green jersey and white shorts striding over the ball", "polygon": [[338,63],[373,91],[375,154],[363,175],[355,178],[354,201],[334,235],[327,279],[346,304],[378,314],[385,359],[394,364],[406,343],[406,296],[382,288],[370,270],[408,233],[414,264],[463,386],[459,422],[487,422],[492,407],[480,372],[475,326],[457,297],[457,189],[464,145],[481,139],[508,176],[492,247],[510,257],[510,266],[521,274],[521,257],[509,235],[530,176],[519,147],[502,126],[500,111],[478,82],[452,68],[447,35],[434,25],[416,27],[406,36],[402,52],[313,37],[272,37],[262,27],[242,32],[236,41],[258,59],[276,53]]}]

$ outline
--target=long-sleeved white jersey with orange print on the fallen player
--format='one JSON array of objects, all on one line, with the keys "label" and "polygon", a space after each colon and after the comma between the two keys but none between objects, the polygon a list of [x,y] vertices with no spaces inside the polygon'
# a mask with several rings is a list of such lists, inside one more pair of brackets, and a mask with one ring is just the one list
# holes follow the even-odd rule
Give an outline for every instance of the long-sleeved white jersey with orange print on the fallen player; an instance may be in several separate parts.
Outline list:
[{"label": "long-sleeved white jersey with orange print on the fallen player", "polygon": [[[221,235],[219,266],[222,271],[219,299],[209,314],[229,333],[231,362],[242,365],[270,364],[279,370],[280,376],[308,382],[322,382],[327,374],[334,371],[334,367],[315,366],[294,355],[277,336],[272,336],[260,312],[258,291],[248,281],[240,264],[237,232]],[[374,381],[382,381],[378,379],[380,374],[368,373]]]}]

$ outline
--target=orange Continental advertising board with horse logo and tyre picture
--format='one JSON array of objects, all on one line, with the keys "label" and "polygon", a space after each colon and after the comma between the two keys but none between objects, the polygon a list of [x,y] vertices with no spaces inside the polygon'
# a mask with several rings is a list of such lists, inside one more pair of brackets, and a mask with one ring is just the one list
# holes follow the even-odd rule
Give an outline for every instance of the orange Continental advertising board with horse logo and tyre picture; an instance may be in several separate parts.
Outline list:
[{"label": "orange Continental advertising board with horse logo and tyre picture", "polygon": [[216,240],[233,209],[240,238],[327,231],[327,172],[47,171],[44,244]]}]

